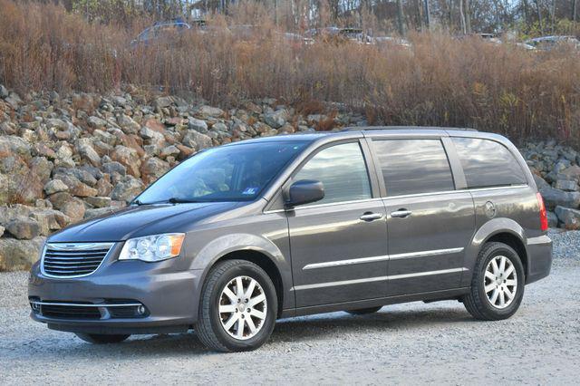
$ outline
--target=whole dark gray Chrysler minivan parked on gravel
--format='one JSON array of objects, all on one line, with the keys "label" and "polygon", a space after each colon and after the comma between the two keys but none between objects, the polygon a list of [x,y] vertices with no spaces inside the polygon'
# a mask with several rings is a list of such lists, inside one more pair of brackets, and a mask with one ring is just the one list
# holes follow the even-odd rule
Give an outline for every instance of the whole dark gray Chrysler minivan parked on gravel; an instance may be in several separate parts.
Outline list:
[{"label": "whole dark gray Chrysler minivan parked on gravel", "polygon": [[[546,209],[502,136],[421,127],[247,140],[198,152],[114,214],[50,236],[34,320],[92,343],[194,329],[256,349],[278,318],[458,300],[517,311],[549,274]],[[353,321],[353,323],[355,323]]]}]

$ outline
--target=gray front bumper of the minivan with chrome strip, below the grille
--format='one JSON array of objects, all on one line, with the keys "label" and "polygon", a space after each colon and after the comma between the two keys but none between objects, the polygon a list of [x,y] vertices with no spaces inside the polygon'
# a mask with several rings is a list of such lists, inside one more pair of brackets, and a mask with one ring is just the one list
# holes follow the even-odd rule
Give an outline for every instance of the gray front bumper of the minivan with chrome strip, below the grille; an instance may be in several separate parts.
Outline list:
[{"label": "gray front bumper of the minivan with chrome strip, below the grille", "polygon": [[[32,303],[89,304],[101,316],[54,316],[33,309],[32,318],[49,328],[76,333],[158,333],[187,330],[196,323],[199,279],[202,271],[180,270],[179,261],[159,263],[103,262],[92,275],[54,278],[43,275],[38,264],[29,277],[28,296]],[[176,266],[177,265],[177,266]],[[131,317],[115,315],[111,304],[142,304],[146,313]],[[38,304],[38,305],[40,305]],[[91,304],[98,305],[92,307]],[[38,309],[40,308],[40,310]],[[114,308],[117,310],[119,308]]]}]

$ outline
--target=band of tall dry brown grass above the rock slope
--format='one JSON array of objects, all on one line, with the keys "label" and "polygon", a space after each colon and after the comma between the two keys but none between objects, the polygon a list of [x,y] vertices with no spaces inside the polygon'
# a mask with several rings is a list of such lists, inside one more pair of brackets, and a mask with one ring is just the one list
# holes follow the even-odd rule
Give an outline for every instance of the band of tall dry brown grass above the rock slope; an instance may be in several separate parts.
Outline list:
[{"label": "band of tall dry brown grass above the rock slope", "polygon": [[[240,14],[233,23],[247,21]],[[336,101],[365,111],[372,123],[470,126],[516,140],[580,142],[575,52],[529,53],[444,34],[414,34],[412,50],[295,46],[268,25],[250,41],[192,33],[131,49],[138,27],[88,24],[53,5],[11,0],[0,0],[0,25],[0,82],[20,92],[108,91],[133,83],[220,104],[274,97],[310,113],[323,110],[322,101]]]}]

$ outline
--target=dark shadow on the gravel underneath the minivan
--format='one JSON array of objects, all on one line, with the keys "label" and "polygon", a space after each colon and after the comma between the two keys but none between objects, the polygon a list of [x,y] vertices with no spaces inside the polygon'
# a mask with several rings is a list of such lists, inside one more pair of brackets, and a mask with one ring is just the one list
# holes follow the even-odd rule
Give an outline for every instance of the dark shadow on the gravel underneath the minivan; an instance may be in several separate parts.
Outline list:
[{"label": "dark shadow on the gravel underneath the minivan", "polygon": [[[375,314],[352,315],[343,312],[318,314],[279,320],[269,344],[304,343],[324,341],[337,333],[401,333],[412,332],[425,326],[449,325],[452,323],[472,323],[469,314],[461,307],[417,309],[395,309],[384,307]],[[351,335],[352,336],[352,335]],[[62,336],[57,336],[62,338]],[[193,331],[189,333],[135,335],[119,344],[84,343],[71,337],[70,344],[55,344],[47,354],[64,357],[86,357],[94,355],[119,356],[122,354],[140,356],[180,356],[210,355],[210,352]],[[355,339],[355,338],[354,338]],[[267,348],[266,345],[266,348]]]}]

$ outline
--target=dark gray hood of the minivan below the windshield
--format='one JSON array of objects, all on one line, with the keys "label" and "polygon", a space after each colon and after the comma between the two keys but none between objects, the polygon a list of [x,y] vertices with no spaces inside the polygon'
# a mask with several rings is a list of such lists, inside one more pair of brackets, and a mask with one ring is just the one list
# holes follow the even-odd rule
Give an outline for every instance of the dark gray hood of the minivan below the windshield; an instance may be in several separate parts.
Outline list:
[{"label": "dark gray hood of the minivan below the windshield", "polygon": [[243,205],[204,202],[124,207],[66,227],[48,238],[51,243],[123,241],[131,237],[188,232],[199,221]]}]

